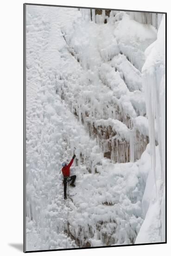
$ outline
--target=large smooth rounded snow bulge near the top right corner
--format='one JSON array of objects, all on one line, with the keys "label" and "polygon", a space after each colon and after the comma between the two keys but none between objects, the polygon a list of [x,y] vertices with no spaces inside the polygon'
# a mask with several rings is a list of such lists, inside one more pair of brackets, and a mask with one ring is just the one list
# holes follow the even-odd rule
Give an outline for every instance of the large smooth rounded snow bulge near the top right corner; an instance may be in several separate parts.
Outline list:
[{"label": "large smooth rounded snow bulge near the top right corner", "polygon": [[144,51],[156,39],[156,29],[151,25],[131,20],[130,16],[124,13],[114,34],[119,41],[120,51],[141,71],[145,61]]}]

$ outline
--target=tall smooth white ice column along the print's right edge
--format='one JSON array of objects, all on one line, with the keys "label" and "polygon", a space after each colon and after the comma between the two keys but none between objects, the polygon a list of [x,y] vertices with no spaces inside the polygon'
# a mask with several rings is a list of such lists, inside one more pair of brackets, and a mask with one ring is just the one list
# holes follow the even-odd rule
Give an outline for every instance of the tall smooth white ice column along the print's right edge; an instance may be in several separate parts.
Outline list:
[{"label": "tall smooth white ice column along the print's right edge", "polygon": [[[160,241],[165,242],[165,14],[158,29],[157,40],[146,49],[145,54],[146,62],[142,68],[142,74],[149,124],[152,171],[148,175],[142,202],[147,205],[144,212],[146,218],[136,243],[156,242],[154,236],[158,230],[161,230]],[[158,130],[158,147],[155,145],[155,122]],[[155,188],[155,192],[151,194],[152,188]],[[151,196],[147,196],[149,193]],[[154,210],[156,210],[156,215],[153,216],[152,224],[150,216]],[[154,233],[153,237],[151,230]]]}]

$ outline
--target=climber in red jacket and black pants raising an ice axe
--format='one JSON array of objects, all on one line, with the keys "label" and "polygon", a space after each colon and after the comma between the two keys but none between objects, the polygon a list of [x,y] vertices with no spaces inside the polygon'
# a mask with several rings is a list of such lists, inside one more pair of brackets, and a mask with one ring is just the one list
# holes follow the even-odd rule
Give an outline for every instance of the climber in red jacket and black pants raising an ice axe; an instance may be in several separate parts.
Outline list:
[{"label": "climber in red jacket and black pants raising an ice axe", "polygon": [[66,162],[62,163],[62,166],[63,166],[62,173],[63,173],[64,199],[67,199],[67,195],[66,195],[67,182],[71,182],[70,183],[71,187],[76,186],[74,184],[74,182],[76,180],[76,175],[70,176],[70,167],[71,167],[75,157],[76,157],[76,155],[74,154],[69,164],[67,164]]}]

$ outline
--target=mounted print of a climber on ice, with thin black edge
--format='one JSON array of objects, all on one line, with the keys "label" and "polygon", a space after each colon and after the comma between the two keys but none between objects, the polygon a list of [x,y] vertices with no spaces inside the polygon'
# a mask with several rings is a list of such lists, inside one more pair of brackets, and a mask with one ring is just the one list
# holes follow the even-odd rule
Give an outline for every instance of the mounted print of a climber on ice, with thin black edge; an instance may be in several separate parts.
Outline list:
[{"label": "mounted print of a climber on ice, with thin black edge", "polygon": [[24,252],[166,243],[165,26],[24,4]]}]

